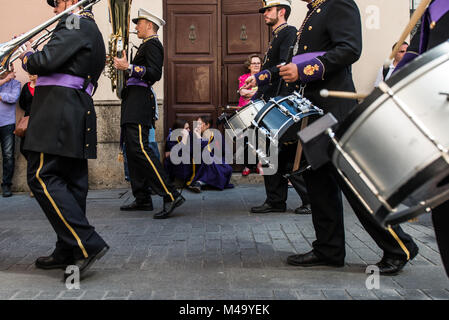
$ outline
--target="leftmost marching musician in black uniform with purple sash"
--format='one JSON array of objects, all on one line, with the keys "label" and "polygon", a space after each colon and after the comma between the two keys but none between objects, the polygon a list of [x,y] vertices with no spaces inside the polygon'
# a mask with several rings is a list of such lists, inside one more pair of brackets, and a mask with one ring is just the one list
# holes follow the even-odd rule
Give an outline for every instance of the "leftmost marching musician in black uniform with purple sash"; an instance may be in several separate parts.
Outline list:
[{"label": "leftmost marching musician in black uniform with purple sash", "polygon": [[[47,0],[55,14],[78,2]],[[28,185],[57,234],[55,250],[36,267],[75,265],[83,277],[109,249],[86,217],[87,159],[97,156],[92,93],[106,59],[103,37],[90,11],[69,14],[42,51],[21,58],[24,69],[39,76],[24,144]]]}]

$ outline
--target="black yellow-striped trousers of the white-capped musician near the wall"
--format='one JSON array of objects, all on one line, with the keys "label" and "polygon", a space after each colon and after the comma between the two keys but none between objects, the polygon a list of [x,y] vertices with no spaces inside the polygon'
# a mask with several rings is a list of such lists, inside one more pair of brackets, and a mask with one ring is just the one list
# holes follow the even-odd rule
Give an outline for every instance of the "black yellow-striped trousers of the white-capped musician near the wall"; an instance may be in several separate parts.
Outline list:
[{"label": "black yellow-striped trousers of the white-capped musician near the wall", "polygon": [[148,187],[164,197],[164,202],[174,201],[179,192],[170,182],[159,158],[148,145],[148,126],[128,123],[122,126],[128,159],[129,177],[134,197],[138,203],[151,201]]}]

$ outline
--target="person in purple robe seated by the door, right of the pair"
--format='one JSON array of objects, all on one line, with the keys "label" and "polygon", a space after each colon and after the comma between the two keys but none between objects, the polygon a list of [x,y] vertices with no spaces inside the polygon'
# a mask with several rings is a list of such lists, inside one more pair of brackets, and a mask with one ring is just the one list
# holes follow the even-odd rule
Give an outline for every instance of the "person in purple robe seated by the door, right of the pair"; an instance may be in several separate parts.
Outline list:
[{"label": "person in purple robe seated by the door, right of the pair", "polygon": [[[192,134],[192,140],[199,139],[201,140],[201,153],[203,154],[204,150],[207,148],[209,150],[209,154],[211,159],[217,159],[215,156],[213,143],[214,135],[209,128],[212,124],[212,119],[208,116],[201,116],[197,120],[198,125],[194,129]],[[195,143],[193,141],[193,143]],[[193,145],[192,143],[192,145]],[[230,184],[232,176],[232,167],[229,164],[224,163],[224,159],[221,160],[220,163],[216,163],[220,161],[213,161],[211,164],[206,164],[204,161],[201,164],[193,163],[193,179],[187,183],[189,189],[193,192],[201,192],[201,188],[204,186],[210,186],[219,190],[234,188],[234,185]]]}]

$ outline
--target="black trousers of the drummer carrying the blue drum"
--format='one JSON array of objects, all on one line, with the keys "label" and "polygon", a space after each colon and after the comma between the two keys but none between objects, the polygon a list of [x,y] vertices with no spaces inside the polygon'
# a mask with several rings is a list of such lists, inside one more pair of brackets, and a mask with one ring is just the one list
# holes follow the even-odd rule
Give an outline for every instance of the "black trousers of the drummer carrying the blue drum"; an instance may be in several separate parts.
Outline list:
[{"label": "black trousers of the drummer carrying the blue drum", "polygon": [[304,173],[312,207],[312,220],[317,240],[313,249],[317,256],[330,262],[343,263],[345,234],[341,191],[362,223],[365,230],[384,251],[384,257],[409,259],[416,250],[413,239],[401,227],[384,229],[363,207],[335,168],[329,163]]}]

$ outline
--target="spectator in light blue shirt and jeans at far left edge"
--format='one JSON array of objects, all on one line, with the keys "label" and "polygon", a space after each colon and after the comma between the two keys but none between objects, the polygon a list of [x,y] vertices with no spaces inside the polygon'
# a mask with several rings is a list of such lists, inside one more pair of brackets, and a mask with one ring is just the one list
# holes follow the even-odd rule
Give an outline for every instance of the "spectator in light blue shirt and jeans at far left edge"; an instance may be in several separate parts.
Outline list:
[{"label": "spectator in light blue shirt and jeans at far left edge", "polygon": [[0,76],[0,144],[3,156],[3,197],[12,196],[11,185],[14,175],[14,147],[16,128],[16,103],[20,96],[20,82],[15,80],[16,74],[11,71]]}]

